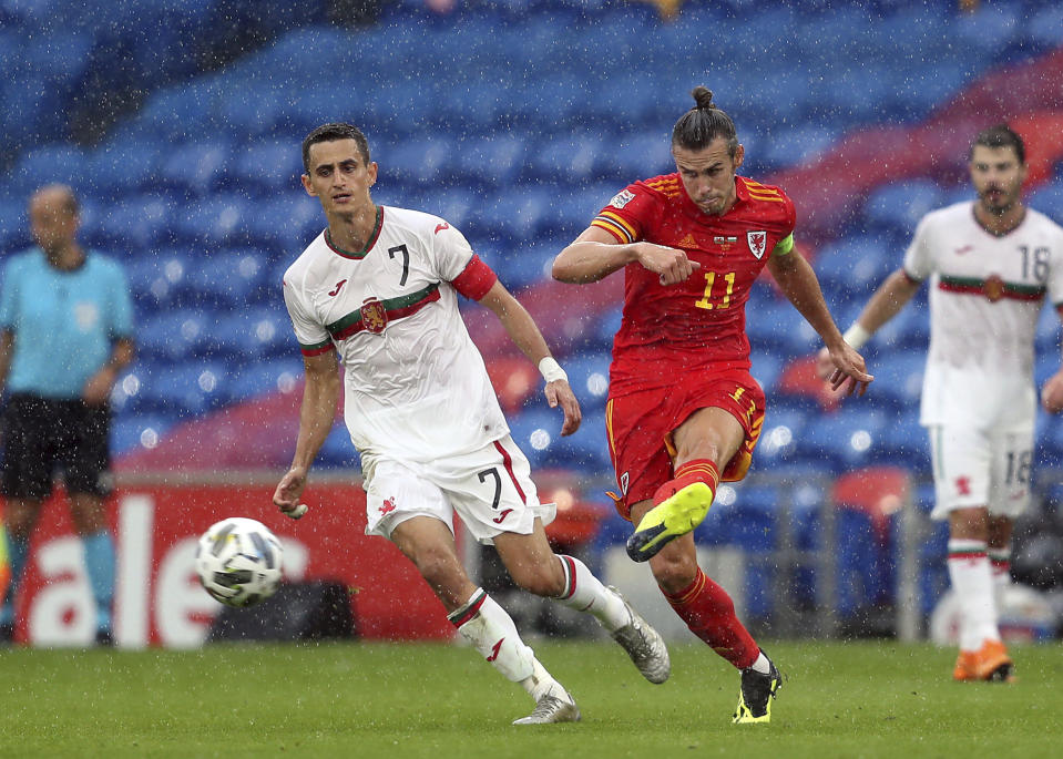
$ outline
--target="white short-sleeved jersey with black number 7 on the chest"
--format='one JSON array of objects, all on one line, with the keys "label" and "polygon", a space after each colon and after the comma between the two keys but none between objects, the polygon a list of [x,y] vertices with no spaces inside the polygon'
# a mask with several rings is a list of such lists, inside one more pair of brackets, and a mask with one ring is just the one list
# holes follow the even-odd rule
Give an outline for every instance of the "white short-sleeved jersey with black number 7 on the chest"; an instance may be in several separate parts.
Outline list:
[{"label": "white short-sleeved jersey with black number 7 on the chest", "polygon": [[304,355],[339,352],[367,476],[379,457],[431,462],[509,433],[451,285],[472,259],[441,218],[379,206],[365,250],[336,248],[326,229],[284,275]]}]

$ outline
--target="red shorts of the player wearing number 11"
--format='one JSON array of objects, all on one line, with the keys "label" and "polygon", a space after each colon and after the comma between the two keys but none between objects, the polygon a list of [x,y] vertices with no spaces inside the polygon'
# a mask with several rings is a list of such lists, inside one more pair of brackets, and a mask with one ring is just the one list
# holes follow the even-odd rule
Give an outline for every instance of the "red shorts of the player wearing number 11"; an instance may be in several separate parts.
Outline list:
[{"label": "red shorts of the player wearing number 11", "polygon": [[609,399],[605,427],[622,498],[616,503],[621,516],[630,520],[628,504],[653,498],[657,488],[672,479],[672,433],[695,411],[707,408],[729,412],[746,432],[720,472],[720,480],[742,480],[764,423],[764,391],[748,371],[692,375],[666,388]]}]

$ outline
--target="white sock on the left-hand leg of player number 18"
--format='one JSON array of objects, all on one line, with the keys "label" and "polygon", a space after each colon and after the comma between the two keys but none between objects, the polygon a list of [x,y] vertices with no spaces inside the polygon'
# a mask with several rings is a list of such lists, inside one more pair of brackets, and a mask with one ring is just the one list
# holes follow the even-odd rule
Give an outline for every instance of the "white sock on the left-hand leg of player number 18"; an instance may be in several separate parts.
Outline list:
[{"label": "white sock on the left-hand leg of player number 18", "polygon": [[960,649],[978,650],[985,640],[1000,640],[985,543],[950,540],[949,578],[960,602]]}]

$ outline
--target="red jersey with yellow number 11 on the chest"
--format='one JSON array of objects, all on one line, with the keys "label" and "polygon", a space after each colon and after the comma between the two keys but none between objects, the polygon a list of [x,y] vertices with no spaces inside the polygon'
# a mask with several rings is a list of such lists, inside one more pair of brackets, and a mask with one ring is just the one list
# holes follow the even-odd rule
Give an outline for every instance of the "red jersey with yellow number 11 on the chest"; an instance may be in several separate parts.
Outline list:
[{"label": "red jersey with yellow number 11 on the chest", "polygon": [[657,176],[628,185],[591,223],[619,243],[681,248],[701,264],[686,281],[668,287],[641,264],[624,268],[610,396],[664,387],[677,373],[749,369],[746,301],[768,256],[793,234],[796,214],[778,187],[744,176],[735,185],[730,211],[709,216],[691,201],[678,174]]}]

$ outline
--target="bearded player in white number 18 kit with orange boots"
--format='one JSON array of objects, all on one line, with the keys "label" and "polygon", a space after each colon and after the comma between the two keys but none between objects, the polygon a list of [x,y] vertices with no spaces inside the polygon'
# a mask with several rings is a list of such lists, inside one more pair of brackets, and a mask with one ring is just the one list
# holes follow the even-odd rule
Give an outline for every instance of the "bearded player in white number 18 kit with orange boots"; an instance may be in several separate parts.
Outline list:
[{"label": "bearded player in white number 18 kit with orange boots", "polygon": [[[1030,500],[1034,331],[1045,300],[1063,314],[1063,229],[1023,206],[1025,146],[1006,125],[975,136],[970,173],[978,199],[920,222],[902,268],[871,296],[846,340],[859,348],[929,279],[920,423],[933,455],[932,516],[949,521],[949,577],[962,611],[952,676],[1009,680],[994,584],[1009,582],[1012,523]],[[1063,410],[1063,370],[1045,383],[1041,403]]]}]

